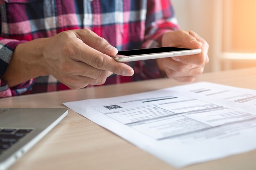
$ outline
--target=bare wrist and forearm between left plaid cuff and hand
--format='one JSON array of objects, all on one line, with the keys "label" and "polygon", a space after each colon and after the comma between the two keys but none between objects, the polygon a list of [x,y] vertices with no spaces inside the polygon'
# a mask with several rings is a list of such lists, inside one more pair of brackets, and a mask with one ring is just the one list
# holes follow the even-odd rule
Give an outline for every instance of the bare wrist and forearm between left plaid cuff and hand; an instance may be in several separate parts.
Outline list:
[{"label": "bare wrist and forearm between left plaid cuff and hand", "polygon": [[9,87],[29,79],[48,75],[47,63],[43,57],[44,38],[18,44],[2,79]]}]

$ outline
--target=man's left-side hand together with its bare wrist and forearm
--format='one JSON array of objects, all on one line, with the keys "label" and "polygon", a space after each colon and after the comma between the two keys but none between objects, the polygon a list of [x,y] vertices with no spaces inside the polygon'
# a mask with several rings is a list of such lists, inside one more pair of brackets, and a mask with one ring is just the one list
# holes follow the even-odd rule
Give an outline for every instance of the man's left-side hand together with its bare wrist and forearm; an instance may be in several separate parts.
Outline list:
[{"label": "man's left-side hand together with its bare wrist and forearm", "polygon": [[53,75],[70,88],[79,89],[103,84],[112,73],[133,75],[130,66],[110,57],[117,52],[88,29],[64,31],[51,38],[19,44],[4,80],[11,87],[34,77]]}]

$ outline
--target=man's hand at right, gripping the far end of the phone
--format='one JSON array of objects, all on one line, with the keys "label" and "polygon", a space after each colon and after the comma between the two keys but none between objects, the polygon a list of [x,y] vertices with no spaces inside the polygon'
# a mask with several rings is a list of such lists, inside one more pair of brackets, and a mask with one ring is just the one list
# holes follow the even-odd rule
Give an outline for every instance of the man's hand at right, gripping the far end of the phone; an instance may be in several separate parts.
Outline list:
[{"label": "man's hand at right, gripping the far end of the phone", "polygon": [[193,31],[170,31],[162,38],[162,46],[176,46],[189,49],[202,49],[197,55],[169,57],[157,59],[160,71],[178,82],[192,82],[204,71],[204,65],[209,62],[209,45]]}]

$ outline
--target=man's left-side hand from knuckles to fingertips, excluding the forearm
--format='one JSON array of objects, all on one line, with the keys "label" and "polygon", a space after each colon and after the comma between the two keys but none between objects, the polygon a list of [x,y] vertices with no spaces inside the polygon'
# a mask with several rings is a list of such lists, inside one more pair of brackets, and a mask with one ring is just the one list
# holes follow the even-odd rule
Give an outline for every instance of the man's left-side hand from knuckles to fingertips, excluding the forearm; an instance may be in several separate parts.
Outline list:
[{"label": "man's left-side hand from knuckles to fingertips, excluding the forearm", "polygon": [[103,84],[112,73],[133,75],[130,66],[109,55],[117,49],[88,29],[59,33],[45,46],[48,73],[73,89],[88,84]]}]

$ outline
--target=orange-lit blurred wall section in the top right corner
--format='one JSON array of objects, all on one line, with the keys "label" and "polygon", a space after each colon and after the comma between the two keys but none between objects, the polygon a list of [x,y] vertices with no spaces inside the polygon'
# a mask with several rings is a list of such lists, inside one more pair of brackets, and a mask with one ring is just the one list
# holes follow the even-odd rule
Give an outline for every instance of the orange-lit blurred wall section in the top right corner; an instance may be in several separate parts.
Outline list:
[{"label": "orange-lit blurred wall section in the top right corner", "polygon": [[223,51],[256,52],[256,0],[225,0],[223,4]]}]

